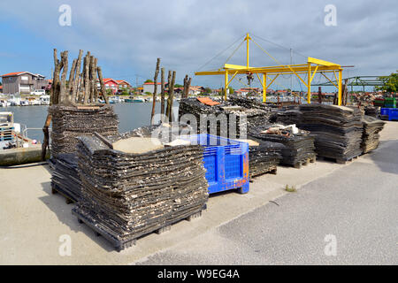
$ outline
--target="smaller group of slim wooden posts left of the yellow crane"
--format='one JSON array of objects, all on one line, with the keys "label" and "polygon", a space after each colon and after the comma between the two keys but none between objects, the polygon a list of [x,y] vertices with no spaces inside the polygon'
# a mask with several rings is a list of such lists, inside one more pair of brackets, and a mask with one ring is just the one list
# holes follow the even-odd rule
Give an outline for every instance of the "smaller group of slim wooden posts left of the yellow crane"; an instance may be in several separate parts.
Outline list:
[{"label": "smaller group of slim wooden posts left of the yellow crane", "polygon": [[[159,74],[160,58],[157,58],[157,68],[155,70],[154,76],[154,90],[153,90],[153,101],[152,101],[152,111],[150,114],[150,121],[153,123],[153,117],[155,116],[155,106],[157,101],[157,76]],[[175,84],[175,71],[169,71],[167,85],[168,85],[168,98],[167,106],[165,107],[165,68],[161,68],[161,93],[160,93],[160,114],[161,117],[166,117],[169,122],[172,122],[172,102],[174,99],[174,84]],[[166,122],[166,121],[162,121]]]}]

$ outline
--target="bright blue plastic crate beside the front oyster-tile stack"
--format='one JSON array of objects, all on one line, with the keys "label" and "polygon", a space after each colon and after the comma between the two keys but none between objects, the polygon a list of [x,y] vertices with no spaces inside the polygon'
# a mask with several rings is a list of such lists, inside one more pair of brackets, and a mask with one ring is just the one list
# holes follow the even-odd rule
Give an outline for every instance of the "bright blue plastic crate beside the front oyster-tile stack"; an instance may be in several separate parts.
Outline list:
[{"label": "bright blue plastic crate beside the front oyster-tile stack", "polygon": [[211,134],[180,136],[191,144],[204,147],[203,164],[209,194],[239,189],[249,192],[249,144]]}]

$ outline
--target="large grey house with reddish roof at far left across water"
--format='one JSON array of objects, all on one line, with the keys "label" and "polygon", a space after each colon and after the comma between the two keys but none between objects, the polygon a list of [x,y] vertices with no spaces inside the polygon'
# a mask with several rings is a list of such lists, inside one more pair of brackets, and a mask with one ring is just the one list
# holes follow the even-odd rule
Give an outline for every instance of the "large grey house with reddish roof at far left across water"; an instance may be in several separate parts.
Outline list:
[{"label": "large grey house with reddish roof at far left across water", "polygon": [[15,72],[2,75],[4,94],[30,95],[35,89],[45,89],[48,81],[38,73]]}]

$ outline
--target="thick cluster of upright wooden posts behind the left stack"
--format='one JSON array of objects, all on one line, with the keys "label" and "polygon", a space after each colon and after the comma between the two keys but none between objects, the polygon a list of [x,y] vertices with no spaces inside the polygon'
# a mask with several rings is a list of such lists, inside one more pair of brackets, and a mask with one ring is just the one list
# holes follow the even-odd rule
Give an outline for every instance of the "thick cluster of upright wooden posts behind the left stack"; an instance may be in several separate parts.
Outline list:
[{"label": "thick cluster of upright wooden posts behind the left stack", "polygon": [[[54,75],[50,89],[50,103],[55,104],[94,104],[97,103],[99,91],[97,80],[101,85],[101,93],[105,103],[109,103],[103,84],[101,67],[97,66],[97,58],[87,52],[83,58],[83,50],[79,51],[79,57],[73,60],[69,80],[66,80],[68,72],[68,51],[61,52],[61,59],[57,58],[57,49],[54,49]],[[82,68],[81,68],[81,63]],[[81,70],[80,70],[81,68]],[[61,73],[62,72],[62,73]]]}]

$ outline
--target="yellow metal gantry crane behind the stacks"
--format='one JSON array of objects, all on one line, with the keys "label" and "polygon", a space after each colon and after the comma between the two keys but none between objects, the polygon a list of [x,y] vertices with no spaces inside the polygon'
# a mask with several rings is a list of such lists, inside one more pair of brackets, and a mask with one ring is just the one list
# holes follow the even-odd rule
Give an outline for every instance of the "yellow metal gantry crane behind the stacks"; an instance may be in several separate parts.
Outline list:
[{"label": "yellow metal gantry crane behind the stacks", "polygon": [[[321,73],[327,80],[329,80],[334,87],[339,89],[339,100],[338,103],[341,105],[341,80],[342,80],[342,68],[341,65],[320,60],[313,57],[308,57],[307,64],[301,65],[275,65],[265,67],[250,67],[249,66],[249,42],[254,42],[253,39],[246,34],[243,42],[246,41],[246,65],[231,65],[225,64],[224,67],[218,69],[218,71],[209,72],[196,72],[195,75],[224,75],[225,76],[225,94],[227,93],[228,86],[231,84],[237,74],[253,74],[256,73],[260,84],[263,86],[263,102],[267,99],[267,88],[270,88],[272,82],[276,80],[279,75],[283,74],[295,74],[299,80],[307,87],[307,102],[311,103],[311,81],[315,74]],[[263,50],[268,56],[272,57],[266,50],[262,49],[260,45],[254,42],[261,50]],[[278,62],[272,57],[273,60]],[[338,72],[338,74],[337,74]],[[338,81],[338,85],[329,79],[325,73],[333,73],[335,81]],[[260,75],[263,77],[260,78]],[[302,74],[307,74],[307,81],[302,79]],[[231,78],[229,76],[232,76]],[[272,78],[273,76],[273,78]]]}]

